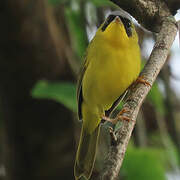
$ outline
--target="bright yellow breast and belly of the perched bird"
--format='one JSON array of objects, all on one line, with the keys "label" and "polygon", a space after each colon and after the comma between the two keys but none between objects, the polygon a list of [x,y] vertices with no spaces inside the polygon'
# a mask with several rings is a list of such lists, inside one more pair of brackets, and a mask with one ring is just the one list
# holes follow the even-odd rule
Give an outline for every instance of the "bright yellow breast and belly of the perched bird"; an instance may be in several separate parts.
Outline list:
[{"label": "bright yellow breast and belly of the perched bird", "polygon": [[105,47],[92,57],[82,84],[86,103],[104,111],[125,92],[140,71],[139,49],[135,48],[129,51]]}]

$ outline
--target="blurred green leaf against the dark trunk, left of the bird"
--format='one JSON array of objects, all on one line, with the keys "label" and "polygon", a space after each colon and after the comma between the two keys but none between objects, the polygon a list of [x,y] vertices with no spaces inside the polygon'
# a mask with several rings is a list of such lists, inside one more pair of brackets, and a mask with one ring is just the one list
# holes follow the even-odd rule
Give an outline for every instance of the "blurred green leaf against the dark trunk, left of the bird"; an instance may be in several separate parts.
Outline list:
[{"label": "blurred green leaf against the dark trunk, left of the bird", "polygon": [[76,85],[73,83],[42,80],[33,88],[32,96],[40,99],[52,99],[73,112],[77,111]]}]

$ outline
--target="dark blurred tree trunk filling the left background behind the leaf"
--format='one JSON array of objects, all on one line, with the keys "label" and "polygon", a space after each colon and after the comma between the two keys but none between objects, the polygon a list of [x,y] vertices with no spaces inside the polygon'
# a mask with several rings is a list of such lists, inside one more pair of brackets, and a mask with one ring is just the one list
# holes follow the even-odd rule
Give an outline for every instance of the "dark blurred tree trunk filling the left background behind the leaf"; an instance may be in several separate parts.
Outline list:
[{"label": "dark blurred tree trunk filling the left background behind the leaf", "polygon": [[72,79],[66,55],[55,48],[44,1],[5,0],[0,12],[6,179],[73,179],[71,113],[58,103],[31,97],[39,79]]}]

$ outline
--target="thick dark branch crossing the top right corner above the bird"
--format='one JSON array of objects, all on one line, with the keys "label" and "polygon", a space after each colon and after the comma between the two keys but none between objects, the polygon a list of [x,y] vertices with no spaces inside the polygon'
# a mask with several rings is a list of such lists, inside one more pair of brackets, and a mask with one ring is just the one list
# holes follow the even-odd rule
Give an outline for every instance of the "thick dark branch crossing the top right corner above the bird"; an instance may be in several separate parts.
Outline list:
[{"label": "thick dark branch crossing the top right corner above the bird", "polygon": [[159,32],[162,17],[176,14],[180,9],[179,0],[110,0],[130,13],[145,28]]}]

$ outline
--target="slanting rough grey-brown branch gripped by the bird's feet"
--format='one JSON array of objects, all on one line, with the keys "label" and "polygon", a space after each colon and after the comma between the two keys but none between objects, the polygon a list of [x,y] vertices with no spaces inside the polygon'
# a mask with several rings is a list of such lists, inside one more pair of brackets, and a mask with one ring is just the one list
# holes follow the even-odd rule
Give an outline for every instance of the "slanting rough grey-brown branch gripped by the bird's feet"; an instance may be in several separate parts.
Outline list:
[{"label": "slanting rough grey-brown branch gripped by the bird's feet", "polygon": [[[116,3],[123,2],[118,0],[112,1],[116,1]],[[142,3],[143,0],[138,2]],[[136,6],[137,4],[138,3],[136,1]],[[146,11],[148,10],[149,9],[146,9]],[[178,30],[177,23],[173,16],[170,16],[169,11],[167,11],[167,13],[158,15],[159,19],[156,22],[161,22],[161,24],[156,25],[156,27],[159,27],[158,29],[160,29],[160,32],[156,38],[156,43],[154,45],[150,58],[141,73],[141,76],[143,76],[150,84],[153,84],[161,68],[163,67]],[[152,17],[152,19],[153,18],[154,17]],[[123,108],[130,109],[130,111],[126,113],[126,116],[128,116],[131,121],[120,122],[121,126],[116,132],[117,143],[110,146],[109,153],[105,161],[105,168],[101,174],[100,179],[114,180],[117,178],[120,167],[122,165],[122,161],[124,159],[129,139],[131,137],[131,133],[136,122],[137,114],[149,90],[150,86],[136,84],[133,88],[133,91],[130,92],[129,98],[126,100]]]}]

